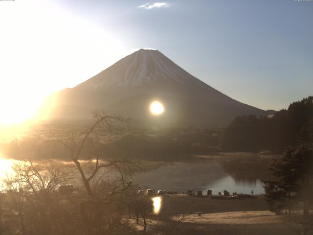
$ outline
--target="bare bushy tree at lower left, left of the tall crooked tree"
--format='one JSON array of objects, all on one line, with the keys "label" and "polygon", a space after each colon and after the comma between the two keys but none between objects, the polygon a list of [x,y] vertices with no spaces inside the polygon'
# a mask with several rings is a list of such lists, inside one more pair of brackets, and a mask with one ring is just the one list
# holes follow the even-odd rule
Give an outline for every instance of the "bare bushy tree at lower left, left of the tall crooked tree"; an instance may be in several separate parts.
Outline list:
[{"label": "bare bushy tree at lower left, left of the tall crooked tree", "polygon": [[22,235],[48,235],[58,230],[67,234],[59,223],[65,211],[59,211],[62,202],[57,188],[72,179],[70,172],[54,162],[24,161],[12,169],[13,176],[3,180],[11,230]]}]

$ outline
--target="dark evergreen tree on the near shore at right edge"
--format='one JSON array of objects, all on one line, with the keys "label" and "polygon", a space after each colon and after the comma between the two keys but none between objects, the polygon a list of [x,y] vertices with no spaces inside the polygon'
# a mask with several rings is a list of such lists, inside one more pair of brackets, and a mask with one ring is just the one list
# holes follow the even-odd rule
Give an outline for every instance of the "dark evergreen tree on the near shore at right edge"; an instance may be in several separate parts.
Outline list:
[{"label": "dark evergreen tree on the near shore at right edge", "polygon": [[272,178],[263,182],[270,210],[288,208],[291,213],[293,202],[302,202],[307,216],[313,193],[313,150],[303,145],[288,148],[268,168]]}]

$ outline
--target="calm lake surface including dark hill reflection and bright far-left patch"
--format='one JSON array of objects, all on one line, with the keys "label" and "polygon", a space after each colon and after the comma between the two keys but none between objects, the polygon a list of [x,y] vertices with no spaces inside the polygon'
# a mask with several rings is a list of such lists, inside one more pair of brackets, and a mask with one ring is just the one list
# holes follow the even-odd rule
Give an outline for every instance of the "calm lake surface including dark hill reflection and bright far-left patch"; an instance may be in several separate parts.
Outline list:
[{"label": "calm lake surface including dark hill reflection and bright far-left patch", "polygon": [[[254,158],[249,159],[249,157]],[[196,161],[196,163],[167,163],[156,169],[134,174],[133,181],[141,188],[178,192],[193,189],[194,191],[202,190],[204,195],[208,189],[211,189],[213,194],[218,194],[223,190],[230,193],[251,193],[251,190],[254,194],[264,193],[261,182],[264,175],[261,176],[260,172],[264,172],[266,164],[264,166],[264,164],[255,161],[260,157],[251,154],[246,154],[242,159],[245,161],[248,159],[249,164],[246,164],[244,160],[223,162],[205,159],[200,162]],[[14,162],[18,161],[0,158],[0,178],[6,177],[6,174],[10,173]],[[253,172],[252,175],[251,172]]]}]

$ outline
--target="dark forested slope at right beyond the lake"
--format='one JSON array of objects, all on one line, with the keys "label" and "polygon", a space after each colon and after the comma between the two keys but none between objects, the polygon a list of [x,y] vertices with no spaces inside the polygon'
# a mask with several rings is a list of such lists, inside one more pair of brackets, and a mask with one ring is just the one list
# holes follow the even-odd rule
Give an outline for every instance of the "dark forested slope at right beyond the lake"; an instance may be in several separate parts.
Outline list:
[{"label": "dark forested slope at right beyond the lake", "polygon": [[272,117],[235,118],[224,130],[222,147],[230,151],[281,152],[297,141],[313,141],[313,96],[293,102]]}]

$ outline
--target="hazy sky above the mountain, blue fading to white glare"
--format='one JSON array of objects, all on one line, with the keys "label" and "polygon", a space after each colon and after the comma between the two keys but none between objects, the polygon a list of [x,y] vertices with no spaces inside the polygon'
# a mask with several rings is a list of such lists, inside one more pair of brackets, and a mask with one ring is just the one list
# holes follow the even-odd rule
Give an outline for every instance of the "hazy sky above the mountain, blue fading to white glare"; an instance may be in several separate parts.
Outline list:
[{"label": "hazy sky above the mountain, blue fading to white glare", "polygon": [[0,121],[141,47],[258,108],[313,94],[313,0],[0,1],[0,32]]}]

